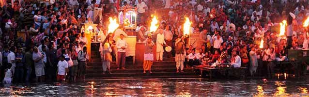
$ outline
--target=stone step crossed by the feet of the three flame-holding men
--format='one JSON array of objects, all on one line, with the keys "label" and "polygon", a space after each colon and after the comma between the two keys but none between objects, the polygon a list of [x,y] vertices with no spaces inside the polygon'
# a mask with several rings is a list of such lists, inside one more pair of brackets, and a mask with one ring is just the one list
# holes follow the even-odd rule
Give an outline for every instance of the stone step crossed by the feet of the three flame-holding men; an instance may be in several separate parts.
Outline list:
[{"label": "stone step crossed by the feet of the three flame-holding men", "polygon": [[[143,68],[132,68],[132,69],[111,69],[111,73],[142,73],[144,70]],[[151,70],[152,72],[176,72],[176,67],[174,68],[154,68]],[[96,73],[102,73],[102,69],[90,69],[86,70],[87,74],[96,74]],[[184,72],[192,72],[191,69],[184,69]]]}]

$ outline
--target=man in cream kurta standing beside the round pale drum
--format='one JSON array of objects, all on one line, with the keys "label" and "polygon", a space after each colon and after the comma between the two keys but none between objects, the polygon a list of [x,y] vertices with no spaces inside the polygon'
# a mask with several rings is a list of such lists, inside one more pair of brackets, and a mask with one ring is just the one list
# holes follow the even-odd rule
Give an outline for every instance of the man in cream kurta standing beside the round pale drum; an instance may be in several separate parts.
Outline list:
[{"label": "man in cream kurta standing beside the round pale drum", "polygon": [[163,46],[166,45],[164,41],[163,30],[160,30],[156,35],[156,61],[163,61]]}]

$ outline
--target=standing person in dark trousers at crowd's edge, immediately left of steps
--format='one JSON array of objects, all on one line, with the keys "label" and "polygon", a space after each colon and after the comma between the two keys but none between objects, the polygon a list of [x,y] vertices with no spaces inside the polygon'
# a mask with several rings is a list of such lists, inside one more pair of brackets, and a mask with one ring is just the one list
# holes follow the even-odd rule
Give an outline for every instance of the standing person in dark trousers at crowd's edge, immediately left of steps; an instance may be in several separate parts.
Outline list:
[{"label": "standing person in dark trousers at crowd's edge, immediately left of steps", "polygon": [[78,75],[80,79],[85,80],[85,73],[86,73],[86,65],[87,60],[89,60],[89,55],[87,53],[87,47],[83,47],[83,51],[78,52]]}]

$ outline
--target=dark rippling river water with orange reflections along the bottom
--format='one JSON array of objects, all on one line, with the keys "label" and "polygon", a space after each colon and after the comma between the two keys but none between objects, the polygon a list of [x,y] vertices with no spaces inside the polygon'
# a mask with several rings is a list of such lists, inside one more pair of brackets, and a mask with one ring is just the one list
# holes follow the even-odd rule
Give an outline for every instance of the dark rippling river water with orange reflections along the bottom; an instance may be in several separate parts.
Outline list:
[{"label": "dark rippling river water with orange reflections along the bottom", "polygon": [[[1,85],[0,97],[309,97],[309,79],[131,79]],[[91,84],[93,82],[93,84]]]}]

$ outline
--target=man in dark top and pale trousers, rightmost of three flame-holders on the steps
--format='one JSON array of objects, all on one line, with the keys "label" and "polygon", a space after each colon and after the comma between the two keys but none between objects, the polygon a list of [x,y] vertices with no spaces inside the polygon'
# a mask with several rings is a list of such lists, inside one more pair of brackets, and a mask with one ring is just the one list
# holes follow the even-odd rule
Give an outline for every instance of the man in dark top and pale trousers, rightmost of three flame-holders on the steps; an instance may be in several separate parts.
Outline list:
[{"label": "man in dark top and pale trousers, rightmost of three flame-holders on the steps", "polygon": [[176,69],[177,69],[177,73],[179,72],[184,72],[184,62],[185,62],[185,49],[183,48],[183,46],[185,45],[185,41],[184,41],[185,37],[183,36],[179,36],[176,39],[175,42],[175,61],[176,61]]}]

